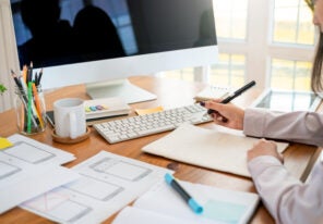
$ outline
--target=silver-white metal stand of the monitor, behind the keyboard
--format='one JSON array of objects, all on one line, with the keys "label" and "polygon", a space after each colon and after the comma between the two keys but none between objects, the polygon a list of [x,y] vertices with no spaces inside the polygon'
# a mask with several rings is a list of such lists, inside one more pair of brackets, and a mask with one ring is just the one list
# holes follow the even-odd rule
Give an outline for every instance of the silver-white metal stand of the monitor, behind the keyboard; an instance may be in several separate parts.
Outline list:
[{"label": "silver-white metal stand of the monitor, behind the keyboard", "polygon": [[125,103],[135,103],[157,98],[156,95],[131,84],[128,79],[86,84],[85,86],[92,99],[120,97]]}]

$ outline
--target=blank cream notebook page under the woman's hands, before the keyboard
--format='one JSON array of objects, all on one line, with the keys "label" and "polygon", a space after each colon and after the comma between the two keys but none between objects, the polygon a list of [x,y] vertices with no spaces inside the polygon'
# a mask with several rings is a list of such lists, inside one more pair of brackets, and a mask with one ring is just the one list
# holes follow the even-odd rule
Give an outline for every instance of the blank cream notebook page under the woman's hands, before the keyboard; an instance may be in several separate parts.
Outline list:
[{"label": "blank cream notebook page under the woman's hands, before the keyboard", "polygon": [[[258,138],[183,124],[143,151],[190,164],[250,177],[247,151]],[[283,152],[288,144],[278,142]]]}]

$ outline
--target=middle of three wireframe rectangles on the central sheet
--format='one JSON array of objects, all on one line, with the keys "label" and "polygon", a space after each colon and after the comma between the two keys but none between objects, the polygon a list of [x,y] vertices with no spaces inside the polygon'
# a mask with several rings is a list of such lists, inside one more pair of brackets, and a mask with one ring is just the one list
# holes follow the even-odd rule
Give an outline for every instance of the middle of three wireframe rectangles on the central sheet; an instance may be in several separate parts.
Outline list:
[{"label": "middle of three wireframe rectangles on the central sheet", "polygon": [[82,178],[63,187],[101,201],[108,201],[124,190],[123,187],[117,186],[112,183],[103,182],[83,174],[81,175],[83,176]]}]

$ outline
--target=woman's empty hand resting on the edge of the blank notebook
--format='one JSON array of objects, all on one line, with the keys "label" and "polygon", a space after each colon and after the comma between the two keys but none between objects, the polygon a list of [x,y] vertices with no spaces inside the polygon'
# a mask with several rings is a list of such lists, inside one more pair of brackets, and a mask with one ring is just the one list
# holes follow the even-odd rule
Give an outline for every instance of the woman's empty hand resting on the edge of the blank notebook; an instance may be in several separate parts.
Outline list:
[{"label": "woman's empty hand resting on the edge of the blank notebook", "polygon": [[284,162],[283,155],[277,151],[275,141],[261,139],[259,140],[247,153],[248,162],[261,155],[272,155],[277,158],[282,163]]}]

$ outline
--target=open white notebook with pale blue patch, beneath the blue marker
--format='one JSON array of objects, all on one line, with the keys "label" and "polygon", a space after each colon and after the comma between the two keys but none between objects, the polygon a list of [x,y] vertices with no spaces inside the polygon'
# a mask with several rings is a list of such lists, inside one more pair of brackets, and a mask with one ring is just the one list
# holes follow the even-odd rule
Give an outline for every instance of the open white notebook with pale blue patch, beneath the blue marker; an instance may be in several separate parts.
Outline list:
[{"label": "open white notebook with pale blue patch, beneath the blue marker", "polygon": [[132,207],[124,208],[113,224],[246,224],[252,216],[259,196],[206,185],[180,182],[184,189],[203,206],[196,214],[165,182],[141,196]]}]

